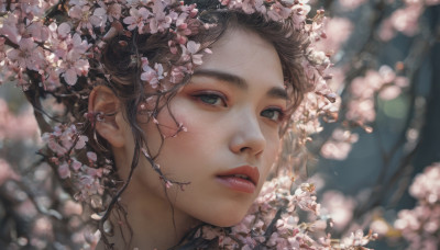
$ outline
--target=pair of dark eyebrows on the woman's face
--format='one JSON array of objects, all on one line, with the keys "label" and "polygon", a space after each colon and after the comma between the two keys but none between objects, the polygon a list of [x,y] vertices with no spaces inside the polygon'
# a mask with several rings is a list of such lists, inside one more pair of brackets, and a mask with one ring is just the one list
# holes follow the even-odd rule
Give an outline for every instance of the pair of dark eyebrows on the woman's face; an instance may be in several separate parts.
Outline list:
[{"label": "pair of dark eyebrows on the woman's face", "polygon": [[[220,81],[224,81],[227,83],[233,84],[239,89],[246,90],[249,88],[248,82],[235,75],[212,70],[212,69],[199,69],[196,70],[193,76],[201,76],[201,77],[209,77],[215,78]],[[278,98],[278,99],[288,99],[287,91],[284,88],[273,87],[267,91],[267,95],[271,98]]]}]

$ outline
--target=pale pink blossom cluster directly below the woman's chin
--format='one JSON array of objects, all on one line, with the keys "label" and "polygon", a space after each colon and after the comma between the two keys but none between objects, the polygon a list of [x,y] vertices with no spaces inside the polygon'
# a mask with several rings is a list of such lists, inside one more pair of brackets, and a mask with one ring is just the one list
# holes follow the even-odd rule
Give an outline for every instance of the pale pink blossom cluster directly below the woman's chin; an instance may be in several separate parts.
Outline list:
[{"label": "pale pink blossom cluster directly below the woman's chin", "polygon": [[[243,220],[228,231],[204,226],[196,237],[217,239],[222,249],[355,249],[365,246],[376,235],[364,236],[362,230],[342,240],[331,239],[324,232],[328,221],[319,217],[312,183],[296,189],[288,177],[276,178],[264,184],[261,194]],[[298,211],[309,213],[311,221],[301,220]]]}]

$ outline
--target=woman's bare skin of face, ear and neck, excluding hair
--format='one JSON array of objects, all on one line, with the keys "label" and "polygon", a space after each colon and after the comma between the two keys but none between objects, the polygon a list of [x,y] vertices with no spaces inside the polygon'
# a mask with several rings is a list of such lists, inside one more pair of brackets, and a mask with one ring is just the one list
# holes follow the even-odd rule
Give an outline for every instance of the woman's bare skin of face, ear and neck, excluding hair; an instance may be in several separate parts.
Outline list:
[{"label": "woman's bare skin of face, ear and neck, excluding hair", "polygon": [[[278,54],[245,24],[229,25],[212,44],[212,55],[158,111],[157,122],[140,117],[147,121],[140,128],[148,155],[157,156],[155,164],[167,178],[188,184],[164,189],[151,163],[139,160],[120,200],[134,231],[132,246],[169,248],[200,220],[238,224],[279,152],[292,95]],[[135,140],[123,105],[107,87],[97,87],[89,103],[90,112],[114,113],[96,129],[111,145],[118,172],[127,180]],[[178,133],[178,124],[185,132]]]}]

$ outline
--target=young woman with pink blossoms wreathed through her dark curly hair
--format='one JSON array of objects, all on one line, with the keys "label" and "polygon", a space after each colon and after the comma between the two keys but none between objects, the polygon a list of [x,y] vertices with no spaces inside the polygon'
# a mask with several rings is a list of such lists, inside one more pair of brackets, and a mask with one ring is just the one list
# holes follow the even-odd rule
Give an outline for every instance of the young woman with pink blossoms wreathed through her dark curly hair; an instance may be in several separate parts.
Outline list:
[{"label": "young woman with pink blossoms wreathed through her dark curly hair", "polygon": [[[308,10],[302,1],[218,0],[62,1],[48,9],[50,35],[33,41],[50,49],[42,65],[23,63],[30,83],[22,84],[47,132],[41,155],[90,206],[99,249],[293,248],[304,240],[293,228],[283,243],[280,230],[274,238],[283,228],[274,223],[290,221],[283,215],[292,201],[279,194],[251,205],[279,160],[293,112],[317,82],[326,93],[328,58],[309,46],[321,15],[307,24]],[[11,65],[16,55],[8,55]],[[69,121],[53,130],[37,99],[47,95]],[[316,212],[312,186],[300,192],[298,206]],[[252,211],[273,220],[249,237],[231,232]]]}]

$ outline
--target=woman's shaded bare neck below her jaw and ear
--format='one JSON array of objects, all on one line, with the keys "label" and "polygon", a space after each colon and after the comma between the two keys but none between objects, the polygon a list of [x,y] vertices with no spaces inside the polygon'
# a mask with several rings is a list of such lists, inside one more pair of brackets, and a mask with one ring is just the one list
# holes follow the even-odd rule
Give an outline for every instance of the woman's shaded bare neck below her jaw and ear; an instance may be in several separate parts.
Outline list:
[{"label": "woman's shaded bare neck below her jaw and ear", "polygon": [[114,235],[109,237],[109,241],[114,243],[116,249],[162,250],[176,246],[198,221],[174,209],[169,202],[161,197],[146,197],[140,188],[133,182],[123,193],[120,204],[127,211],[127,223],[123,213],[114,209],[111,216]]}]

